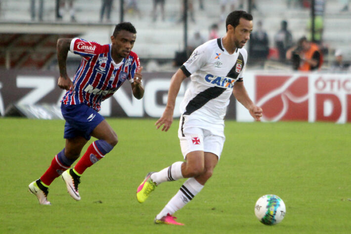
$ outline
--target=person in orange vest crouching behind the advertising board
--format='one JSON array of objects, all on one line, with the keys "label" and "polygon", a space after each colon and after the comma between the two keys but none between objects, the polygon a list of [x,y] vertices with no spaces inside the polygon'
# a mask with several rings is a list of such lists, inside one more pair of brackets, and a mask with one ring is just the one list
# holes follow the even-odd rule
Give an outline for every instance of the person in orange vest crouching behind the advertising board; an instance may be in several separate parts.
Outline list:
[{"label": "person in orange vest crouching behind the advertising board", "polygon": [[318,70],[323,63],[323,55],[316,43],[306,37],[299,39],[296,46],[286,52],[286,58],[293,63],[293,69],[303,72]]}]

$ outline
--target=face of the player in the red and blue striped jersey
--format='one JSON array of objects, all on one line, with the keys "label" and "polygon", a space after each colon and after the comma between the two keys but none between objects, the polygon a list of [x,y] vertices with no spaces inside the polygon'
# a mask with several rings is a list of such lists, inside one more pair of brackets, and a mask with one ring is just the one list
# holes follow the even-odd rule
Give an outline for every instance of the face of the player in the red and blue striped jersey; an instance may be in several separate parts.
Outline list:
[{"label": "face of the player in the red and blue striped jersey", "polygon": [[111,36],[112,51],[115,55],[121,58],[125,58],[131,52],[136,35],[126,30],[118,32],[117,36]]}]

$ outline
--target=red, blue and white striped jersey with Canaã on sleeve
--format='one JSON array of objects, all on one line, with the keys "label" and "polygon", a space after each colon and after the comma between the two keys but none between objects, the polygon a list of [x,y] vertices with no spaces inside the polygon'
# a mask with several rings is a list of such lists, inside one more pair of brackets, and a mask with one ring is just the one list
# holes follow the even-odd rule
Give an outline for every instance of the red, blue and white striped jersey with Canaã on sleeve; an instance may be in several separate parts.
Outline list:
[{"label": "red, blue and white striped jersey with Cana\u00e3 on sleeve", "polygon": [[72,39],[72,53],[82,56],[73,79],[73,87],[62,98],[65,105],[86,104],[100,110],[103,100],[111,97],[127,79],[132,83],[140,67],[136,53],[132,52],[116,64],[111,57],[111,44],[100,45],[84,39]]}]

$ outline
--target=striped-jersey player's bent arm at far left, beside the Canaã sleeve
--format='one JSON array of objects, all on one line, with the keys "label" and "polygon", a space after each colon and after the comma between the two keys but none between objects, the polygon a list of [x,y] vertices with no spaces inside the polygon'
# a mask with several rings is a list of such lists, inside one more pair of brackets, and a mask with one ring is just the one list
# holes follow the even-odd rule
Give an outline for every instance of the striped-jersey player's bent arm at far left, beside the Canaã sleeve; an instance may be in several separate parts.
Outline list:
[{"label": "striped-jersey player's bent arm at far left, beside the Cana\u00e3 sleeve", "polygon": [[67,54],[70,50],[72,39],[60,38],[57,40],[57,61],[60,70],[60,77],[58,78],[57,85],[62,89],[70,89],[73,86],[72,80],[67,75],[66,61]]}]

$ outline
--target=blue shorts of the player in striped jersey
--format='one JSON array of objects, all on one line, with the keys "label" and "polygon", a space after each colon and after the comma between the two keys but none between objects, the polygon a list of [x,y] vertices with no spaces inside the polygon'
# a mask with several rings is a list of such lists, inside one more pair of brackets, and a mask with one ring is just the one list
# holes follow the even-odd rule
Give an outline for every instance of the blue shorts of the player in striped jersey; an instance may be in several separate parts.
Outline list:
[{"label": "blue shorts of the player in striped jersey", "polygon": [[104,117],[86,104],[64,105],[62,103],[61,112],[66,120],[63,134],[65,139],[82,136],[89,140],[92,130],[104,120]]}]

